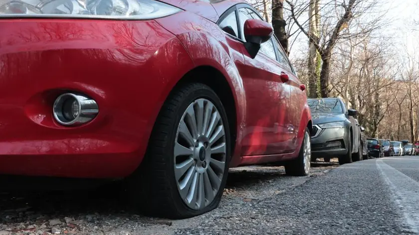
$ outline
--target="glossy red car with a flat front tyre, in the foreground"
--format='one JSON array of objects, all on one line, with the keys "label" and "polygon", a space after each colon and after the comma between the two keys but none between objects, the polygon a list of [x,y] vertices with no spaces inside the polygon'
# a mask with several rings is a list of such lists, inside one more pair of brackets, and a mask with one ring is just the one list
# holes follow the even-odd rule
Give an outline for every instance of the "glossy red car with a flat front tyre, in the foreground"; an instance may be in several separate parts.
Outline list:
[{"label": "glossy red car with a flat front tyre, in the foreground", "polygon": [[168,218],[216,208],[228,167],[309,174],[305,86],[247,3],[5,0],[0,17],[0,174],[123,177]]}]

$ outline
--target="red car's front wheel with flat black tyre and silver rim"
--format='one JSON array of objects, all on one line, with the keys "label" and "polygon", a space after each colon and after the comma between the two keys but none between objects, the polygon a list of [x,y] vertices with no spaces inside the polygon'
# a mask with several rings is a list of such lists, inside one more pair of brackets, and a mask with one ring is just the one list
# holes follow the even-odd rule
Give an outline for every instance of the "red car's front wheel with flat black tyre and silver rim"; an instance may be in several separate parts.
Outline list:
[{"label": "red car's front wheel with flat black tyre and silver rim", "polygon": [[128,180],[144,214],[170,219],[215,209],[227,180],[230,135],[221,101],[195,83],[173,91],[154,125],[146,156]]}]

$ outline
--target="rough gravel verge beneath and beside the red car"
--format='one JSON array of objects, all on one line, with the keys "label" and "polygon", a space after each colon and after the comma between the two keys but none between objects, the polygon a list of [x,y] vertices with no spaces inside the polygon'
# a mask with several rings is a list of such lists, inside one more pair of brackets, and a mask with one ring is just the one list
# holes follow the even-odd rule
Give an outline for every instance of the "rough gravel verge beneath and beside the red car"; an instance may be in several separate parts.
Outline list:
[{"label": "rough gravel verge beneath and beside the red car", "polygon": [[[281,200],[290,190],[312,178],[323,177],[337,166],[336,162],[313,163],[310,177],[288,177],[283,167],[269,165],[231,169],[218,209],[178,221],[124,211],[117,185],[94,190],[77,186],[51,192],[44,188],[34,190],[37,185],[31,182],[16,184],[2,179],[2,185],[13,185],[12,190],[0,192],[0,235],[217,234],[230,229],[231,233],[241,233],[238,231],[243,224],[251,228],[247,231],[250,234],[262,233],[286,222],[282,217],[267,217],[273,211],[280,212],[276,209],[280,205],[271,206],[269,201]],[[16,189],[20,185],[23,188]]]}]

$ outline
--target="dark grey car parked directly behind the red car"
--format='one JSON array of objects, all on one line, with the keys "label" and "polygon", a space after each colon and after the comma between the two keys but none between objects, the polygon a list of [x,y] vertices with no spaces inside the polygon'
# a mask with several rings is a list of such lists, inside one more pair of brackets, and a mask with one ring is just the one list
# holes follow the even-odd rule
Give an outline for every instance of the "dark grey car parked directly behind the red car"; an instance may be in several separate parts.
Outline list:
[{"label": "dark grey car parked directly behind the red car", "polygon": [[338,157],[339,164],[362,160],[361,129],[339,98],[308,99],[313,118],[312,161]]}]

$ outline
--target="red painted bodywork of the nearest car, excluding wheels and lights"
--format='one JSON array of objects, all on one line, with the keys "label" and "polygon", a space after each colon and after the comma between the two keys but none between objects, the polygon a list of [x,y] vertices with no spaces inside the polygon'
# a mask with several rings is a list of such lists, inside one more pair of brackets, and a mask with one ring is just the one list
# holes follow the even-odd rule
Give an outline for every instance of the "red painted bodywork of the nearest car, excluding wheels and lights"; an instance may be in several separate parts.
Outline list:
[{"label": "red painted bodywork of the nearest car, excluding wheels and lights", "polygon": [[[307,98],[294,75],[283,83],[275,61],[251,59],[214,23],[235,2],[167,2],[186,11],[145,21],[0,20],[0,174],[130,175],[169,93],[200,66],[218,70],[234,97],[231,167],[297,157]],[[98,116],[59,125],[52,104],[65,90],[96,100]]]}]

